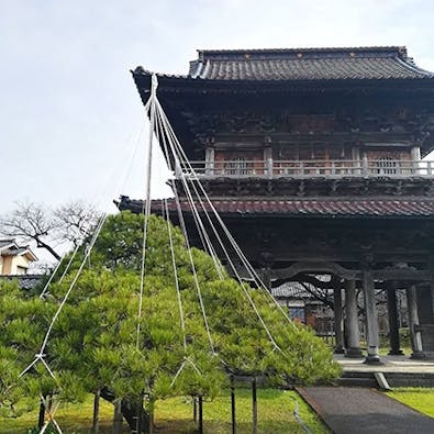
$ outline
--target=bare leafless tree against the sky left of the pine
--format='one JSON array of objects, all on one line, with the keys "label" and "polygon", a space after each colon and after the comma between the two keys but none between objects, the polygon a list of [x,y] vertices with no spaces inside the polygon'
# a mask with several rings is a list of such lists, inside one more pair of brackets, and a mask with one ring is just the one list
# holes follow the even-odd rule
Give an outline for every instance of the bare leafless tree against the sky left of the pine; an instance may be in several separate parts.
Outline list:
[{"label": "bare leafless tree against the sky left of the pine", "polygon": [[35,243],[37,248],[60,259],[59,245],[77,245],[98,220],[96,209],[77,201],[52,210],[42,203],[18,202],[16,208],[0,218],[0,235],[21,243]]}]

